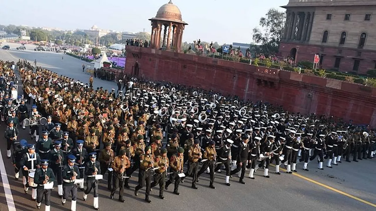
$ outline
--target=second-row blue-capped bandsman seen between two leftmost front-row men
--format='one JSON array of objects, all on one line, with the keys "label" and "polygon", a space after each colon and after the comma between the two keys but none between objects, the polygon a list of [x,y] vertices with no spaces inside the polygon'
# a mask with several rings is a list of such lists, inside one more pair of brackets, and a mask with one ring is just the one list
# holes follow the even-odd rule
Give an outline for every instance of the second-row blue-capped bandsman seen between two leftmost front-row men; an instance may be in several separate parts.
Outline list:
[{"label": "second-row blue-capped bandsman seen between two leftmost front-row men", "polygon": [[62,167],[64,167],[64,152],[60,149],[61,141],[55,142],[55,147],[49,152],[48,160],[51,162],[51,169],[58,180],[58,194],[59,197],[63,196],[63,178]]}]

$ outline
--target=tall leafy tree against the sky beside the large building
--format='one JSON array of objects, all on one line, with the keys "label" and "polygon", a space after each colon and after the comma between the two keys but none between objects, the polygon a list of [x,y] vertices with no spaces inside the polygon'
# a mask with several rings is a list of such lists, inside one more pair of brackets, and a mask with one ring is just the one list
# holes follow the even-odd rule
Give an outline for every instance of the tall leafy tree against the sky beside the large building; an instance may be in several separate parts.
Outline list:
[{"label": "tall leafy tree against the sky beside the large building", "polygon": [[285,22],[285,12],[271,8],[266,17],[260,19],[259,24],[262,29],[258,27],[253,29],[253,41],[261,45],[261,53],[264,53],[265,56],[278,52],[280,40],[284,34]]}]

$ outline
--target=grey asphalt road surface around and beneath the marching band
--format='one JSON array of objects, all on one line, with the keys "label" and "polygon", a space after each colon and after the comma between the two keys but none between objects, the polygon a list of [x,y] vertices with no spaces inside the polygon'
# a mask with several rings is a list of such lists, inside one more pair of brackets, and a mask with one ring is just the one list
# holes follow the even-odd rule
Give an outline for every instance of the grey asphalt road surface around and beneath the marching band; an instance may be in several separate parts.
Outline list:
[{"label": "grey asphalt road surface around and beneath the marching band", "polygon": [[[73,57],[62,54],[48,52],[31,52],[31,51],[14,51],[0,50],[0,59],[18,60],[18,58],[27,59],[33,62],[37,60],[38,66],[44,66],[68,77],[86,82],[89,75],[82,72],[82,61]],[[94,80],[94,87],[103,86],[105,89],[115,88],[116,84],[110,81],[99,79]],[[5,124],[0,126],[0,134],[5,131]],[[27,139],[30,136],[28,130],[20,129],[20,139]],[[3,139],[3,138],[1,138]],[[6,158],[6,142],[0,142],[0,165],[5,164],[9,185],[12,191],[15,207],[17,210],[31,211],[36,209],[35,202],[31,200],[31,190],[29,194],[23,191],[21,179],[14,179],[14,170],[11,160]],[[342,159],[344,161],[344,159]],[[263,170],[255,173],[255,180],[248,179],[248,170],[246,172],[245,182],[243,185],[238,182],[237,176],[230,178],[231,186],[224,184],[224,173],[216,173],[214,185],[215,190],[208,187],[209,177],[203,174],[198,183],[199,190],[191,189],[191,178],[186,178],[185,183],[180,184],[180,196],[172,193],[173,184],[165,191],[165,199],[158,197],[158,187],[153,188],[150,199],[152,203],[144,202],[145,188],[141,189],[139,195],[134,196],[134,187],[137,184],[137,173],[133,173],[130,179],[131,189],[125,189],[125,203],[118,202],[115,194],[115,200],[109,199],[107,190],[107,181],[100,182],[99,186],[99,207],[101,210],[121,210],[129,209],[135,211],[141,210],[164,210],[164,211],[185,211],[185,210],[268,210],[268,211],[301,211],[301,210],[326,210],[326,211],[353,211],[353,210],[376,210],[376,159],[361,160],[358,163],[342,162],[332,169],[326,167],[324,170],[317,169],[317,162],[314,160],[308,164],[309,172],[303,171],[303,164],[297,165],[297,173],[287,174],[281,168],[281,175],[274,173],[274,167],[270,167],[270,178],[264,178]],[[303,177],[303,178],[302,178]],[[20,177],[21,178],[21,177]],[[310,181],[309,181],[310,180]],[[8,210],[6,197],[4,194],[4,181],[0,182],[0,210]],[[314,183],[315,182],[315,183]],[[323,187],[323,185],[327,185]],[[331,188],[328,188],[331,187]],[[335,188],[335,190],[333,190]],[[171,190],[172,189],[172,190]],[[337,190],[337,191],[336,191]],[[338,193],[342,191],[343,194]],[[92,210],[93,196],[88,196],[88,200],[82,200],[82,192],[79,191],[77,199],[77,210]],[[350,196],[345,196],[349,194]],[[357,197],[358,200],[354,199]],[[9,198],[9,197],[8,197]],[[366,202],[361,202],[365,200]],[[52,192],[52,210],[70,210],[70,199],[65,206],[61,205],[58,197],[57,187]],[[368,203],[371,203],[371,206]],[[42,208],[44,209],[44,205]]]}]

